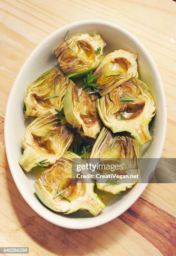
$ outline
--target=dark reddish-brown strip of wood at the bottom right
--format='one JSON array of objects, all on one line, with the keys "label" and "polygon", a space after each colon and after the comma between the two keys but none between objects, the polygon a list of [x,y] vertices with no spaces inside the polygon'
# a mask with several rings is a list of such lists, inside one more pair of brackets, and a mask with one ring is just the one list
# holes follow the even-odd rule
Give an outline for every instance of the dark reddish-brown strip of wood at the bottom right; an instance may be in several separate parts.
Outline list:
[{"label": "dark reddish-brown strip of wood at the bottom right", "polygon": [[163,255],[174,255],[176,218],[168,212],[139,198],[119,219],[144,236]]}]

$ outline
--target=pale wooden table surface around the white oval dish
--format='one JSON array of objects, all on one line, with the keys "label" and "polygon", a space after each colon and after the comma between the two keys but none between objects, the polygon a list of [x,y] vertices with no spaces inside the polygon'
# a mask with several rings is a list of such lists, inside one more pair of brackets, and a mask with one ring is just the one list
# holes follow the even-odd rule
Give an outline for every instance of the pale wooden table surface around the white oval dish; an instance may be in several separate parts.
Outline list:
[{"label": "pale wooden table surface around the white oval dish", "polygon": [[13,182],[5,155],[3,128],[15,77],[43,38],[57,28],[83,19],[118,24],[146,46],[161,74],[167,99],[168,126],[162,156],[176,157],[176,2],[1,0],[0,246],[27,246],[30,255],[42,256],[176,255],[175,184],[149,184],[129,210],[106,225],[68,230],[37,215]]}]

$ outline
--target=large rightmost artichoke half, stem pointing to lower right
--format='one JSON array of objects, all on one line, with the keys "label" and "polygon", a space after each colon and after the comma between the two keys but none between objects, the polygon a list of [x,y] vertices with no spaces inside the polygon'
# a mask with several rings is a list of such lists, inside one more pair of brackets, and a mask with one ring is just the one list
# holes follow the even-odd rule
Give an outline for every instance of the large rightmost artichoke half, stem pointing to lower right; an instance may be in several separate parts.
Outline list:
[{"label": "large rightmost artichoke half, stem pointing to lower right", "polygon": [[155,115],[149,88],[134,78],[97,100],[99,116],[113,133],[127,131],[141,145],[151,140],[149,122]]}]

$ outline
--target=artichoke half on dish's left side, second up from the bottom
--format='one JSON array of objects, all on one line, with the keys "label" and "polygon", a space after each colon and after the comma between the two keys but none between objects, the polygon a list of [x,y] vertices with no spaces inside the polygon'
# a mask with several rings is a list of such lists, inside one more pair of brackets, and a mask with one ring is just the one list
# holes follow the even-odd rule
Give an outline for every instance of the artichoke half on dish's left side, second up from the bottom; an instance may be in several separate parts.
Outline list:
[{"label": "artichoke half on dish's left side, second up from the bottom", "polygon": [[72,130],[58,123],[56,115],[47,112],[27,126],[19,164],[26,172],[35,166],[46,168],[63,156],[72,141]]}]

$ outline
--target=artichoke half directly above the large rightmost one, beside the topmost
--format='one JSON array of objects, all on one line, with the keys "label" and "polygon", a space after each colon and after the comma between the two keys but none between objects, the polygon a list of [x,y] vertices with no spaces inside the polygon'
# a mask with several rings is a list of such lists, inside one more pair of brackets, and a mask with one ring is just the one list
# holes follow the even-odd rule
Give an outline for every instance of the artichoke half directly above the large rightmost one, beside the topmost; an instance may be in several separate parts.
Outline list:
[{"label": "artichoke half directly above the large rightmost one, beside the topmost", "polygon": [[131,78],[138,77],[137,56],[137,54],[119,49],[111,52],[102,60],[93,73],[97,76],[94,82],[100,84],[96,86],[96,89],[99,89],[101,96]]}]

